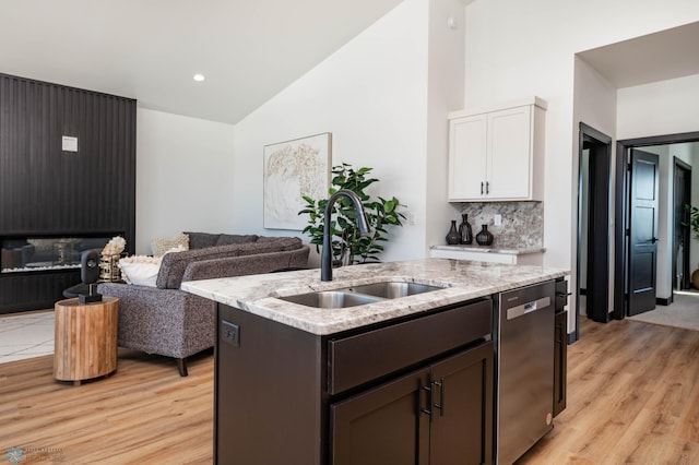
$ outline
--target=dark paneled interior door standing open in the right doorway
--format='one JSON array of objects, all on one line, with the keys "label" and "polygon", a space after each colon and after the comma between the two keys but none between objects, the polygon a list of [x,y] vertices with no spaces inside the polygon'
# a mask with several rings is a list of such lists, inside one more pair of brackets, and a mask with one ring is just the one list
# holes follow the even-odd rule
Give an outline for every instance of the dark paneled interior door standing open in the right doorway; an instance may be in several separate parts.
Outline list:
[{"label": "dark paneled interior door standing open in the right doorway", "polygon": [[629,315],[655,308],[657,263],[657,155],[631,150],[629,208]]}]

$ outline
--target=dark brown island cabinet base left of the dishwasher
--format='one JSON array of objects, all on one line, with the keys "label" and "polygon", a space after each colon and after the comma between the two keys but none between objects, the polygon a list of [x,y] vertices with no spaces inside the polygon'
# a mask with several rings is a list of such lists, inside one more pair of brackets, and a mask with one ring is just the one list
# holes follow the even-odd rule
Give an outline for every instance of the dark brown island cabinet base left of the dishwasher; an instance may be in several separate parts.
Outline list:
[{"label": "dark brown island cabinet base left of the dishwasher", "polygon": [[215,463],[491,463],[490,299],[331,335],[216,313]]}]

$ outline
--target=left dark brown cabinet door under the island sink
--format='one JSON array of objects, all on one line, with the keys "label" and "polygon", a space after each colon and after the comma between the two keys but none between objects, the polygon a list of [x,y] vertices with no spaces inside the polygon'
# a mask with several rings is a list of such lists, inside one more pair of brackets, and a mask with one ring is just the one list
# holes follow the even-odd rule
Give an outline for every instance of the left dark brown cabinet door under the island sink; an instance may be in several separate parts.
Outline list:
[{"label": "left dark brown cabinet door under the island sink", "polygon": [[419,370],[331,405],[332,464],[426,465],[428,375]]}]

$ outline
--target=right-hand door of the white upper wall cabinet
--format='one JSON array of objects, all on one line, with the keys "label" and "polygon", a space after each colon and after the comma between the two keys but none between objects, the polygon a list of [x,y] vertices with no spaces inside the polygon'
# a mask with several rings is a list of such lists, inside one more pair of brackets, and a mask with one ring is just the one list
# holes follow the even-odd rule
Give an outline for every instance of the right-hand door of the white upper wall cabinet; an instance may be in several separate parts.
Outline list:
[{"label": "right-hand door of the white upper wall cabinet", "polygon": [[532,106],[488,114],[488,200],[524,200],[531,195]]}]

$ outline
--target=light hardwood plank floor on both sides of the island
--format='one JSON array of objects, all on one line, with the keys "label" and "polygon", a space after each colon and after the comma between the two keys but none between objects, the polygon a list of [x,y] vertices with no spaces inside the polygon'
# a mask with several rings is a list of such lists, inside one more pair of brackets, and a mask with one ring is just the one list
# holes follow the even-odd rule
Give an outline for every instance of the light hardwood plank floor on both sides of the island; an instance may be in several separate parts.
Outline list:
[{"label": "light hardwood plank floor on both sides of the island", "polygon": [[[699,332],[585,320],[568,350],[568,408],[518,464],[699,463]],[[171,360],[120,350],[115,374],[80,386],[51,363],[0,365],[0,458],[17,446],[70,464],[212,463],[211,354],[180,378]]]}]

